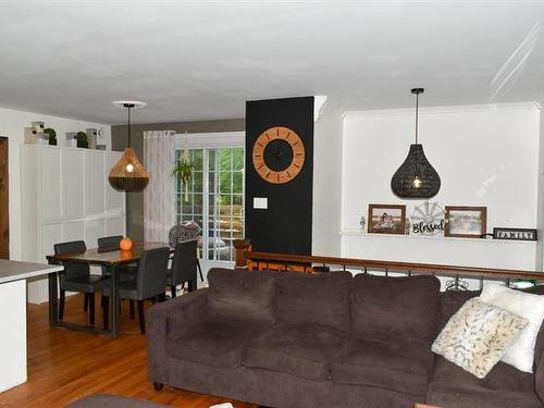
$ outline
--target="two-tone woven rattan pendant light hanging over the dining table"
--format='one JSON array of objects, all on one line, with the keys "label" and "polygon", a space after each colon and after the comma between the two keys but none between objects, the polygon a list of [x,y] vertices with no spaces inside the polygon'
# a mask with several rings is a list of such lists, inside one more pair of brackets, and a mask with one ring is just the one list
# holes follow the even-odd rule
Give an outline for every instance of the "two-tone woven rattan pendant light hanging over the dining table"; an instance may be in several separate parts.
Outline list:
[{"label": "two-tone woven rattan pendant light hanging over the dining table", "polygon": [[149,183],[149,173],[141,165],[136,157],[136,152],[131,147],[131,109],[145,108],[146,103],[115,101],[112,104],[124,108],[128,112],[128,147],[125,148],[125,152],[121,159],[111,168],[108,180],[110,181],[110,185],[119,191],[141,191]]}]

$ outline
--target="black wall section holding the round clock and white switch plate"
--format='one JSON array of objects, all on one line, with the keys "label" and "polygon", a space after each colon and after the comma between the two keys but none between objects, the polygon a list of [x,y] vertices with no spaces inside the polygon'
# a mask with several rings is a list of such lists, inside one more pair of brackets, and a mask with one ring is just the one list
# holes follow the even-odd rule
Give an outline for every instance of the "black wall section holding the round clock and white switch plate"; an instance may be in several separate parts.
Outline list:
[{"label": "black wall section holding the round clock and white switch plate", "polygon": [[254,250],[311,254],[313,112],[313,97],[246,103],[245,236]]}]

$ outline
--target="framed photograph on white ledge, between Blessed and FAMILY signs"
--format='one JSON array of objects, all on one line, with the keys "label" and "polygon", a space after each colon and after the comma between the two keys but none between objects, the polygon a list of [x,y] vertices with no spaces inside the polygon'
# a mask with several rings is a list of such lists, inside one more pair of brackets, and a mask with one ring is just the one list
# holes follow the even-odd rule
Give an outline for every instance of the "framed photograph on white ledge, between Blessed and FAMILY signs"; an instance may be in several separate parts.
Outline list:
[{"label": "framed photograph on white ledge, between Blessed and FAMILY signs", "polygon": [[444,236],[481,238],[487,232],[487,207],[445,208]]}]

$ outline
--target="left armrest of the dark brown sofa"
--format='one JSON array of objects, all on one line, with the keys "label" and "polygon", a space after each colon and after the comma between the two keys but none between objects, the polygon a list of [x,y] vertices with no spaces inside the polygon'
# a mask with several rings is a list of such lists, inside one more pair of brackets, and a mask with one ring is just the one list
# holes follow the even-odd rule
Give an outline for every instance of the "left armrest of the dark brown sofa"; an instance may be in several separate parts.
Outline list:
[{"label": "left armrest of the dark brown sofa", "polygon": [[166,337],[176,326],[190,327],[207,314],[208,289],[157,304],[146,312],[148,380],[168,383]]}]

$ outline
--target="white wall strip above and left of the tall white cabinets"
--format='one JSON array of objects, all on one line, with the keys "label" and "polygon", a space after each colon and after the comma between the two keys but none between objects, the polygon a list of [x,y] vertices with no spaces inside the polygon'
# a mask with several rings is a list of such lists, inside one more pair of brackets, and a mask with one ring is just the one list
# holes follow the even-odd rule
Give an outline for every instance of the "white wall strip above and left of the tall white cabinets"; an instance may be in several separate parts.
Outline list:
[{"label": "white wall strip above and left of the tall white cabinets", "polygon": [[22,255],[21,242],[21,145],[24,143],[24,127],[30,122],[41,121],[46,127],[57,131],[57,138],[61,143],[66,132],[85,131],[88,127],[102,128],[103,139],[100,144],[111,148],[111,126],[99,123],[75,121],[72,119],[45,115],[33,112],[16,111],[0,108],[0,136],[9,137],[9,172],[10,172],[10,258],[20,260]]}]

